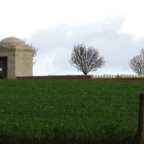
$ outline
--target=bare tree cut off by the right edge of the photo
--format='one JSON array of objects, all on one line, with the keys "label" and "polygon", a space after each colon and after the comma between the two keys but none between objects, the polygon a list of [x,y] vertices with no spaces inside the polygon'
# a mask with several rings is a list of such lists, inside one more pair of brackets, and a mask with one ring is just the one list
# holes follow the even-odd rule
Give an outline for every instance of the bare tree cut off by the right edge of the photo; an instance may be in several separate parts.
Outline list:
[{"label": "bare tree cut off by the right edge of the photo", "polygon": [[130,67],[138,75],[144,74],[144,49],[141,50],[140,55],[133,57],[130,60]]}]

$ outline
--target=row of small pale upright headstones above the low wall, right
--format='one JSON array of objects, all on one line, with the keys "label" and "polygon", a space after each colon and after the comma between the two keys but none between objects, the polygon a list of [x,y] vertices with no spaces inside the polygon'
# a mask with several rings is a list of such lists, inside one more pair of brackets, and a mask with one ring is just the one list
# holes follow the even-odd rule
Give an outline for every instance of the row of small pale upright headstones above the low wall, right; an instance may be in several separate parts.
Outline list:
[{"label": "row of small pale upright headstones above the low wall, right", "polygon": [[127,74],[121,74],[121,75],[92,75],[92,78],[144,78],[144,75],[127,75]]}]

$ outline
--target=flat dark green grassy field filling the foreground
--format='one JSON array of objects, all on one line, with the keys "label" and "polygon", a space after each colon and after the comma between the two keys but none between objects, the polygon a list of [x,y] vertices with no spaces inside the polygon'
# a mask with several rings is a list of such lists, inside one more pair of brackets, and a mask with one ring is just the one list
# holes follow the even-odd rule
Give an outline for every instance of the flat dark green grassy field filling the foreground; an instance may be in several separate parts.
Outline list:
[{"label": "flat dark green grassy field filling the foreground", "polygon": [[134,144],[144,82],[0,80],[0,143]]}]

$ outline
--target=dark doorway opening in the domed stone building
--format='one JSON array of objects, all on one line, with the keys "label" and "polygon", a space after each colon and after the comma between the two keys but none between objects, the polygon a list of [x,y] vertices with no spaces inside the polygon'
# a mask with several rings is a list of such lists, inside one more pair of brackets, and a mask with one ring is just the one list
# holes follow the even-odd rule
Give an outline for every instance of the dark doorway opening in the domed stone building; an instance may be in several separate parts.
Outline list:
[{"label": "dark doorway opening in the domed stone building", "polygon": [[0,57],[0,79],[7,79],[7,57]]}]

